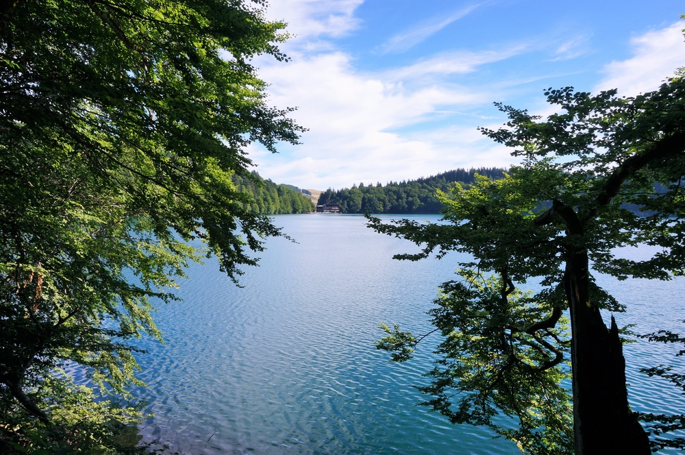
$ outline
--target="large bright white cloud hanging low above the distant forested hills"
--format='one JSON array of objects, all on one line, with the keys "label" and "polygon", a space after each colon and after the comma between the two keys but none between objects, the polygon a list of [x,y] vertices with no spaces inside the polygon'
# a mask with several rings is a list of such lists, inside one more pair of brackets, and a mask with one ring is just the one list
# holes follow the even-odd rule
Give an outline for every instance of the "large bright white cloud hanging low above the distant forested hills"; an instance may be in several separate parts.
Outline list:
[{"label": "large bright white cloud hanging low above the distant forested hills", "polygon": [[[475,125],[422,124],[429,116],[439,120],[449,115],[441,112],[445,108],[490,103],[491,89],[484,92],[416,81],[407,88],[385,73],[356,71],[342,52],[297,56],[288,64],[262,67],[260,75],[271,83],[271,103],[299,106],[295,119],[310,129],[302,145],[281,147],[279,155],[266,156],[257,147],[251,149],[260,174],[275,182],[340,188],[511,160],[509,151],[482,137]],[[413,132],[401,130],[407,126]]]}]

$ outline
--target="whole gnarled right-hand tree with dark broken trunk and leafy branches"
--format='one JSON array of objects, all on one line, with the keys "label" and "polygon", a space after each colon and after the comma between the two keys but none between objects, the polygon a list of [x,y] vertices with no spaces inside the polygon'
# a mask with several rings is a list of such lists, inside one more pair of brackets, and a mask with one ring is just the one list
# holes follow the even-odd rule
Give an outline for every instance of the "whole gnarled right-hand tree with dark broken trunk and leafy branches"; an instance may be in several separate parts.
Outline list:
[{"label": "whole gnarled right-hand tree with dark broken trunk and leafy branches", "polygon": [[[593,271],[619,280],[685,274],[685,80],[678,73],[637,97],[571,87],[545,95],[559,112],[544,121],[497,105],[508,123],[482,132],[514,148],[523,162],[503,180],[480,177],[471,188],[438,193],[449,223],[388,225],[370,218],[369,225],[423,247],[399,259],[418,260],[436,250],[438,257],[462,251],[473,258],[462,264],[462,281],[441,286],[431,313],[447,338],[429,373],[432,385],[423,389],[433,397],[426,404],[455,423],[494,426],[536,454],[647,454],[647,435],[627,402],[620,330],[613,317],[608,329],[600,313],[624,308],[595,284]],[[643,244],[658,252],[647,260],[616,253]],[[543,290],[522,295],[517,288],[526,282],[539,282]],[[410,356],[419,337],[386,331],[378,347],[399,352],[396,360]],[[479,341],[461,341],[469,336]],[[572,435],[563,431],[571,415],[557,418],[551,411],[571,410],[560,391],[566,362],[572,369]],[[508,379],[512,369],[516,381]],[[519,430],[495,425],[496,413],[519,417]],[[652,432],[664,428],[684,427]],[[653,439],[651,445],[682,447],[682,441]]]}]

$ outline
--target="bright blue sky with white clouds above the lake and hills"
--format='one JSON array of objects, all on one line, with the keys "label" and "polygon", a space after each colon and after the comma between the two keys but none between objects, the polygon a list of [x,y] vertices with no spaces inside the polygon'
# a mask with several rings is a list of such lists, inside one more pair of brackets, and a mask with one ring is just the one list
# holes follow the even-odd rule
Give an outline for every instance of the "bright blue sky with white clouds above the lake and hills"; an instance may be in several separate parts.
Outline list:
[{"label": "bright blue sky with white clouds above the lake and hills", "polygon": [[685,66],[680,14],[682,0],[271,0],[290,61],[253,64],[308,131],[248,151],[262,177],[318,190],[507,167],[477,130],[506,121],[493,102],[545,116],[545,88],[654,90]]}]

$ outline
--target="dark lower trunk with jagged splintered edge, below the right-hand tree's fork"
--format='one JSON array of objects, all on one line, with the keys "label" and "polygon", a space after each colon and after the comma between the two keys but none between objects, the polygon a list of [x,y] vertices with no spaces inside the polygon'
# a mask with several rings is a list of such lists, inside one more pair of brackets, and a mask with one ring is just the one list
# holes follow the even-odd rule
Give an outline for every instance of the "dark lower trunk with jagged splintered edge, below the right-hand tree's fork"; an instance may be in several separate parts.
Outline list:
[{"label": "dark lower trunk with jagged splintered edge, below the right-hand tree's fork", "polygon": [[571,309],[575,455],[651,454],[630,410],[625,359],[614,317],[606,328],[590,301],[588,255],[569,247],[564,287]]}]

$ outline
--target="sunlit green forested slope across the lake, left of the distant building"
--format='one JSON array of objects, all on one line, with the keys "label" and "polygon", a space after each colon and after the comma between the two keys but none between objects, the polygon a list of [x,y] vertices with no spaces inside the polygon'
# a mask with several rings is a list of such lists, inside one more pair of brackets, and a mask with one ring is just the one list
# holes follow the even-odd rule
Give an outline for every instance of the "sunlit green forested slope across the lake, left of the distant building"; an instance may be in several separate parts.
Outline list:
[{"label": "sunlit green forested slope across the lake, left of the distant building", "polygon": [[290,185],[278,185],[271,180],[264,180],[255,171],[252,172],[263,185],[258,185],[252,180],[238,175],[233,176],[233,181],[238,189],[251,195],[253,202],[249,204],[250,210],[259,214],[279,213],[308,213],[314,211],[314,204],[310,199],[299,191],[288,188]]}]

